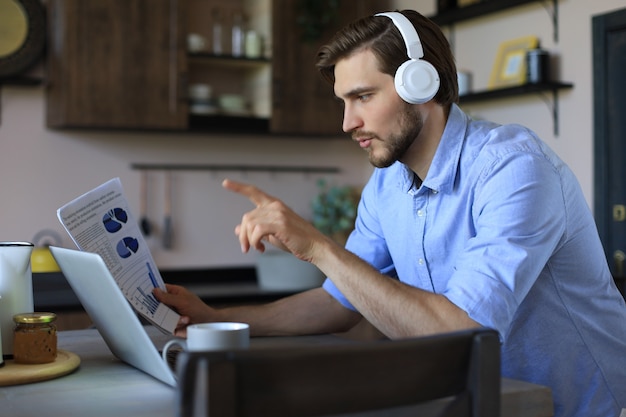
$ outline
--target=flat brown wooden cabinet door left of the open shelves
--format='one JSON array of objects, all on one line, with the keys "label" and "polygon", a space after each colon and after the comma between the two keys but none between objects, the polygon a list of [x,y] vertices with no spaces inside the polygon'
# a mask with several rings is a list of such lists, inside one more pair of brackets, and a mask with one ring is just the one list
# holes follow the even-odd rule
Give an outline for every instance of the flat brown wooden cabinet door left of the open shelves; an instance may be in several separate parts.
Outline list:
[{"label": "flat brown wooden cabinet door left of the open shelves", "polygon": [[185,128],[184,4],[50,0],[47,125]]}]

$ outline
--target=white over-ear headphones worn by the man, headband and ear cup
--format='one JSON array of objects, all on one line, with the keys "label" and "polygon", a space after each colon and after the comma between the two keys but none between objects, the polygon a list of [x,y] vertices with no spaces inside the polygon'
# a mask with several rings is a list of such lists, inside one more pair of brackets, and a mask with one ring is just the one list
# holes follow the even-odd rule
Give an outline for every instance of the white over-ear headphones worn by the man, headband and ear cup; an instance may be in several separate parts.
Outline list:
[{"label": "white over-ear headphones worn by the man, headband and ear cup", "polygon": [[407,103],[426,103],[439,91],[439,74],[430,62],[421,59],[424,50],[415,27],[399,12],[378,13],[376,16],[391,19],[406,44],[409,60],[398,67],[394,77],[398,95]]}]

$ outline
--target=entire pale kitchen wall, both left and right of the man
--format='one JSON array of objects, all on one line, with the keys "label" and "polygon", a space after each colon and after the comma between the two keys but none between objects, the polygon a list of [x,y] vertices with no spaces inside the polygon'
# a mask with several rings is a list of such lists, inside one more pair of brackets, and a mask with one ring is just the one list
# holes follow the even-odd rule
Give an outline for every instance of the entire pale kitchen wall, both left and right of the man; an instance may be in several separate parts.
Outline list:
[{"label": "entire pale kitchen wall, both left and right of the man", "polygon": [[[434,11],[432,0],[396,0],[397,8]],[[623,0],[559,1],[558,43],[542,3],[472,20],[455,27],[459,67],[470,69],[474,87],[487,85],[500,42],[537,35],[560,56],[558,78],[574,83],[560,94],[560,135],[552,132],[549,108],[538,96],[467,106],[473,115],[497,122],[526,124],[536,130],[578,176],[589,204],[593,202],[593,90],[591,17],[625,7]],[[43,87],[5,86],[0,103],[0,240],[32,240],[41,229],[62,232],[56,209],[119,176],[135,216],[139,216],[140,173],[132,163],[240,163],[324,165],[342,168],[329,178],[362,185],[371,169],[366,156],[347,137],[332,140],[234,137],[229,135],[152,134],[55,131],[45,127]],[[338,130],[340,126],[337,127]],[[175,244],[170,251],[150,244],[160,267],[251,265],[242,255],[233,228],[251,205],[220,187],[223,177],[254,182],[284,198],[308,216],[317,176],[303,174],[175,172],[173,207]],[[150,176],[149,215],[162,224],[160,172]],[[65,234],[63,233],[63,236]],[[63,244],[73,247],[69,239]]]}]

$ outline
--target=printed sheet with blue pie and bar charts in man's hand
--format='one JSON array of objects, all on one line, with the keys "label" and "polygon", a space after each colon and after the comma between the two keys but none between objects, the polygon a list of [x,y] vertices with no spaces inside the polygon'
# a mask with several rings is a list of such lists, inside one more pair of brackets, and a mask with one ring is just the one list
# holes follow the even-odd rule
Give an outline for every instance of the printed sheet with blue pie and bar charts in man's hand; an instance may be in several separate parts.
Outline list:
[{"label": "printed sheet with blue pie and bar charts in man's hand", "polygon": [[135,311],[173,334],[179,315],[152,295],[155,287],[165,290],[165,284],[128,207],[120,179],[67,203],[57,216],[80,250],[102,257]]}]

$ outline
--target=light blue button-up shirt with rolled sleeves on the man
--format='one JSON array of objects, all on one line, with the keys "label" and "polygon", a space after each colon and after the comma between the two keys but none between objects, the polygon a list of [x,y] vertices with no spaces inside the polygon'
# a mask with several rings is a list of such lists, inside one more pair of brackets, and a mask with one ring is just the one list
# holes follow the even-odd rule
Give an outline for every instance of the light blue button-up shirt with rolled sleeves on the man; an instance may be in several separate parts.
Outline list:
[{"label": "light blue button-up shirt with rolled sleeves on the man", "polygon": [[421,186],[374,171],[346,247],[498,330],[503,375],[551,387],[555,415],[626,408],[624,299],[577,179],[528,129],[453,105]]}]

